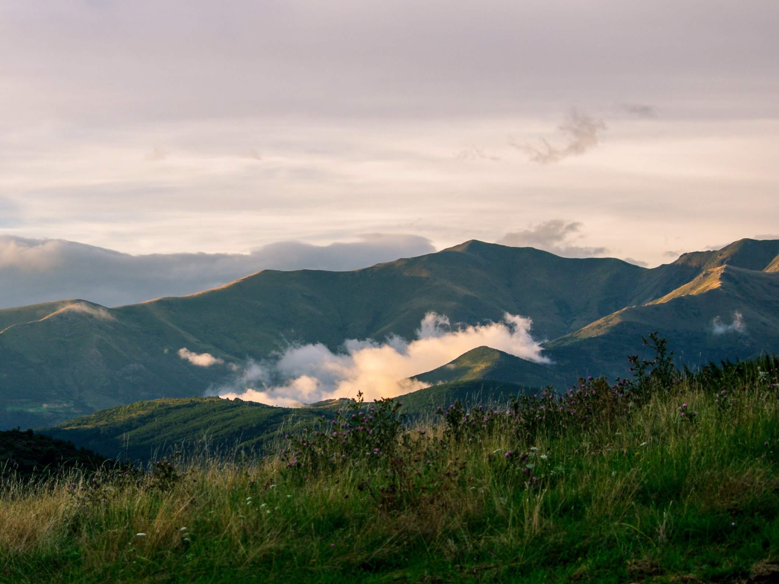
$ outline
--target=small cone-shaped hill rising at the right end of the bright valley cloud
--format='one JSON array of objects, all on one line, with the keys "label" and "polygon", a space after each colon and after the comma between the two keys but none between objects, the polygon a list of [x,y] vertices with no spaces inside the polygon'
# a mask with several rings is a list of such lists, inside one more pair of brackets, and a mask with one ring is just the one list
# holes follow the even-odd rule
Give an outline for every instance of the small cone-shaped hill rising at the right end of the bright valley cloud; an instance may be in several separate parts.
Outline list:
[{"label": "small cone-shaped hill rising at the right end of the bright valley cloud", "polygon": [[497,381],[525,387],[544,387],[562,382],[551,365],[514,357],[491,347],[477,347],[432,371],[414,375],[421,382]]}]

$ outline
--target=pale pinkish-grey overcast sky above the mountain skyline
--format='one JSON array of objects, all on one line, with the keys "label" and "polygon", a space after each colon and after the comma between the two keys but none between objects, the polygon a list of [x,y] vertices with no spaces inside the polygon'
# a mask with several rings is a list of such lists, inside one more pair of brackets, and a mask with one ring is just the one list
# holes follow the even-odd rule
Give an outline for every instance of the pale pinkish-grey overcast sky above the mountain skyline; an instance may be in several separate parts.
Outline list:
[{"label": "pale pinkish-grey overcast sky above the mountain skyline", "polygon": [[0,0],[0,274],[770,237],[776,30],[775,0]]}]

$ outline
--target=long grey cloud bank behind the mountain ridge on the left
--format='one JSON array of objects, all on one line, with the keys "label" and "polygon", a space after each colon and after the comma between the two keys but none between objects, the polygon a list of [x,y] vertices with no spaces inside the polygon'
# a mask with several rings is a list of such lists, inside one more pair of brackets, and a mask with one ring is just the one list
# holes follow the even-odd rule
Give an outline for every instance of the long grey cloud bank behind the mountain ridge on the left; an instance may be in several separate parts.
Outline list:
[{"label": "long grey cloud bank behind the mountain ridge on the left", "polygon": [[281,241],[248,254],[129,255],[74,241],[0,236],[0,308],[85,298],[105,306],[180,296],[261,269],[348,270],[435,252],[425,237],[363,234],[358,241]]}]

